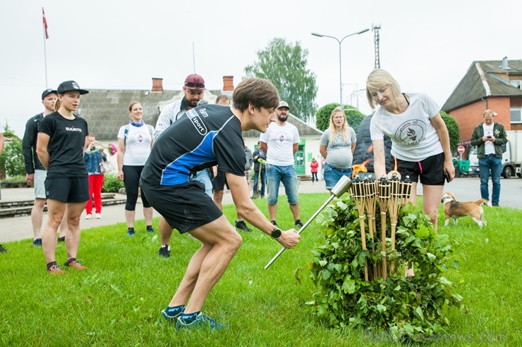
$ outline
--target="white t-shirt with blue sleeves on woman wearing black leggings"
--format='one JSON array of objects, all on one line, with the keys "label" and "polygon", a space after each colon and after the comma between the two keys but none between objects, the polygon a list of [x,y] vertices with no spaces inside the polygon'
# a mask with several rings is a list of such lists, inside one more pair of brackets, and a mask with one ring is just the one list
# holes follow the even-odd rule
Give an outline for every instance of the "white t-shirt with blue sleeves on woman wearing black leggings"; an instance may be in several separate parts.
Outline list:
[{"label": "white t-shirt with blue sleeves on woman wearing black leggings", "polygon": [[[125,125],[118,132],[119,139],[125,139]],[[125,153],[123,153],[123,165],[143,166],[150,155],[150,136],[149,127],[143,124],[141,127],[129,125],[127,139],[125,141]]]}]

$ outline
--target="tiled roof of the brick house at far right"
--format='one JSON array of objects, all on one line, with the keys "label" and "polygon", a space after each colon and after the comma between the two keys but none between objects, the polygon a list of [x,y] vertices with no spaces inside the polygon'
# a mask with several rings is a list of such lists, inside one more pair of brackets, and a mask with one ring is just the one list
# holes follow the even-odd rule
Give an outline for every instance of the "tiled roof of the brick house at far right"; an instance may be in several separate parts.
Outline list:
[{"label": "tiled roof of the brick house at far right", "polygon": [[508,66],[502,68],[502,61],[474,61],[442,106],[442,111],[450,112],[486,97],[522,96],[522,90],[506,79],[508,76],[516,76],[511,80],[522,79],[522,60],[509,61]]}]

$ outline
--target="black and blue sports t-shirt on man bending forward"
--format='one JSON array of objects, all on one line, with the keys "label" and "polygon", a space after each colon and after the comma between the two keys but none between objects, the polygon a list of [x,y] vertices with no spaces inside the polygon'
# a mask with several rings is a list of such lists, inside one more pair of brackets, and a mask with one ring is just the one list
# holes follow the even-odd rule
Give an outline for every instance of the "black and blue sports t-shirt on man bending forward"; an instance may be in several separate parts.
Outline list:
[{"label": "black and blue sports t-shirt on man bending forward", "polygon": [[205,105],[176,120],[154,142],[141,179],[174,186],[188,182],[190,172],[219,165],[219,170],[245,176],[241,122],[230,108]]}]

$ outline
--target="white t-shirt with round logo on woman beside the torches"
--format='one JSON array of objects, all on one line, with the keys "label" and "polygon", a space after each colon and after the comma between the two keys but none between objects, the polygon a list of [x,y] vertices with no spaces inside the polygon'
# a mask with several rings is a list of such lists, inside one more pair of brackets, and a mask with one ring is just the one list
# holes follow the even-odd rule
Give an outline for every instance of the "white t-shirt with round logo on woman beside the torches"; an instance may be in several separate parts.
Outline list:
[{"label": "white t-shirt with round logo on woman beside the torches", "polygon": [[430,121],[439,113],[439,106],[426,94],[407,95],[410,105],[399,115],[384,107],[377,108],[370,122],[372,140],[388,135],[392,141],[391,155],[405,161],[420,161],[442,153],[439,134]]}]

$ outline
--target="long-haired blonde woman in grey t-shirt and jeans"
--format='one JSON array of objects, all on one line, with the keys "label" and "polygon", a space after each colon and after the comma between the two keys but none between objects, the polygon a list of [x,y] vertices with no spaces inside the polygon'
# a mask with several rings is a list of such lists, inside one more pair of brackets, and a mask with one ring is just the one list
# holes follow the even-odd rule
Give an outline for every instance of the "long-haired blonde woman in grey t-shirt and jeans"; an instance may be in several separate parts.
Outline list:
[{"label": "long-haired blonde woman in grey t-shirt and jeans", "polygon": [[332,190],[342,176],[350,177],[353,151],[356,149],[357,135],[346,121],[341,106],[334,108],[330,115],[330,126],[321,135],[319,151],[324,162],[324,182]]}]

